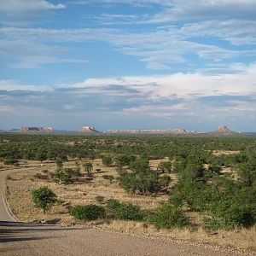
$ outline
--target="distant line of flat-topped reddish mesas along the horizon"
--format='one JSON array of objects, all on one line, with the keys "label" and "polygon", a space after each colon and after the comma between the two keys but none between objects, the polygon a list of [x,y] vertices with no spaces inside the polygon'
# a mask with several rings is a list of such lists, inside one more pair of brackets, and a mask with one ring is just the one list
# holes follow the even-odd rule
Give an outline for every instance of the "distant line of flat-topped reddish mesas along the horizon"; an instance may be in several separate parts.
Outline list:
[{"label": "distant line of flat-topped reddish mesas along the horizon", "polygon": [[80,131],[55,130],[50,127],[29,127],[24,126],[20,129],[11,129],[4,131],[0,129],[0,133],[39,133],[39,134],[106,134],[106,135],[169,135],[169,136],[209,136],[209,137],[234,137],[234,136],[255,136],[256,132],[236,132],[231,131],[225,125],[219,125],[215,131],[189,131],[185,129],[152,129],[152,130],[108,130],[97,131],[94,126],[83,126]]}]

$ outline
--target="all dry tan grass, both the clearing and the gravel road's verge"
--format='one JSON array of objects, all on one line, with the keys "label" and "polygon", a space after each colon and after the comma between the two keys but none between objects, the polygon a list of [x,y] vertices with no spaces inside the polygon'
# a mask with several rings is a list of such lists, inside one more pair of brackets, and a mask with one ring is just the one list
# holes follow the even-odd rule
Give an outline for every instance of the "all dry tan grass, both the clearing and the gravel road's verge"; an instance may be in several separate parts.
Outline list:
[{"label": "all dry tan grass, both the clearing and the gravel road's verge", "polygon": [[[68,161],[64,167],[75,167],[75,161]],[[158,165],[160,160],[150,161],[150,166],[153,168]],[[79,163],[81,163],[79,161]],[[1,163],[0,163],[1,165]],[[160,203],[168,200],[168,195],[146,196],[146,195],[128,195],[124,189],[119,187],[115,180],[113,183],[105,180],[103,175],[113,175],[117,177],[114,167],[102,166],[101,160],[94,160],[94,170],[102,169],[97,173],[94,171],[94,178],[91,183],[73,183],[63,184],[56,183],[48,179],[40,179],[34,177],[37,173],[50,176],[50,173],[55,172],[55,164],[52,162],[44,163],[40,166],[39,161],[20,162],[22,168],[30,166],[38,166],[34,170],[26,170],[24,172],[16,172],[9,176],[7,185],[9,187],[8,201],[15,215],[23,221],[46,220],[52,223],[59,224],[76,224],[78,223],[68,214],[68,202],[72,205],[77,204],[98,204],[96,195],[104,196],[105,200],[110,198],[118,199],[119,201],[131,202],[141,206],[143,209],[154,209]],[[83,172],[82,168],[81,171]],[[173,174],[171,174],[173,178]],[[174,177],[175,178],[175,177]],[[40,186],[48,186],[56,195],[59,202],[52,207],[45,215],[38,209],[33,207],[31,199],[32,189]],[[121,220],[104,220],[94,221],[89,224],[96,225],[101,228],[122,230],[124,232],[133,232],[139,234],[150,234],[157,236],[168,236],[177,239],[190,241],[203,241],[212,244],[223,246],[241,247],[256,251],[256,227],[247,230],[220,230],[218,232],[210,232],[203,230],[200,224],[200,217],[195,212],[189,213],[189,219],[193,224],[192,227],[183,230],[156,230],[150,224],[143,224],[133,221]]]}]

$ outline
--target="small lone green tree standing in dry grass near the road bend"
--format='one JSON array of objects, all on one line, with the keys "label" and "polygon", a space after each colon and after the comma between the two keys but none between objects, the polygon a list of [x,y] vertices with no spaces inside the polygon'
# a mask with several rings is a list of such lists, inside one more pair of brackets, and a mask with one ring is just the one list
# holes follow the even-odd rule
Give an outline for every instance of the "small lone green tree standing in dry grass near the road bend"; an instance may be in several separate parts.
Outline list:
[{"label": "small lone green tree standing in dry grass near the road bend", "polygon": [[41,187],[32,190],[32,201],[35,207],[43,209],[45,214],[57,201],[57,195],[47,187]]}]

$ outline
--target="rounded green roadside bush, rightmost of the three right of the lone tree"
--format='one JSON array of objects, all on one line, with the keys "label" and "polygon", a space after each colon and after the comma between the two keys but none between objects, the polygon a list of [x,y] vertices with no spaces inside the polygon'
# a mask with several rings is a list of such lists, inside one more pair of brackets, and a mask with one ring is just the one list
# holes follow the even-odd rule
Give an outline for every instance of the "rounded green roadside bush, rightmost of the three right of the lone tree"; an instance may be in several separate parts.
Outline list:
[{"label": "rounded green roadside bush, rightmost of the three right of the lone tree", "polygon": [[182,228],[189,224],[183,212],[170,203],[156,208],[149,222],[158,229]]}]

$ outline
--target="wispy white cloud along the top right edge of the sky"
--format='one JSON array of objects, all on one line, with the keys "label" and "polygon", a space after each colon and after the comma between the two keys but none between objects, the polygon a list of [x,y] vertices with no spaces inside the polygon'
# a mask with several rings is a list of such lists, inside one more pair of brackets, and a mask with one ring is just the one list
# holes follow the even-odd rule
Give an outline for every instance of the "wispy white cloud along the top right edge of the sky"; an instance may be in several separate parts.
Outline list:
[{"label": "wispy white cloud along the top right edge of the sky", "polygon": [[69,3],[90,4],[131,4],[152,7],[160,5],[165,8],[154,15],[148,23],[162,23],[173,20],[204,20],[204,19],[255,19],[255,0],[73,0]]}]

